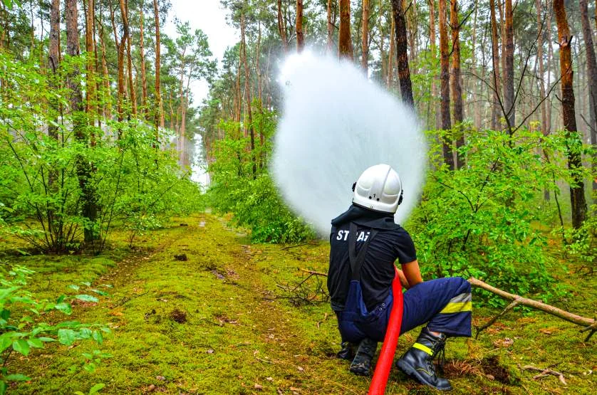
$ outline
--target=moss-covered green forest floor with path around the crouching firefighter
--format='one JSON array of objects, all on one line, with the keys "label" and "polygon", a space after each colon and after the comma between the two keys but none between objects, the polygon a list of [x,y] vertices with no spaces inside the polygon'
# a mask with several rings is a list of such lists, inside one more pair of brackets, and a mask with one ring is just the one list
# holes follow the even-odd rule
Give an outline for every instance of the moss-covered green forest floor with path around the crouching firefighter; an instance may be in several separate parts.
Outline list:
[{"label": "moss-covered green forest floor with path around the crouching firefighter", "polygon": [[[98,303],[73,305],[64,320],[109,323],[103,344],[48,344],[28,357],[13,354],[6,367],[31,381],[11,384],[14,394],[73,394],[104,383],[106,394],[365,394],[370,377],[353,376],[339,349],[336,319],[327,303],[297,306],[289,289],[308,275],[301,269],[327,268],[328,243],[293,246],[250,244],[223,218],[196,214],[125,246],[115,233],[113,248],[98,258],[4,256],[36,270],[31,290],[40,297],[69,293],[69,284],[107,285]],[[174,256],[185,254],[187,260]],[[568,268],[573,272],[574,268]],[[596,276],[554,276],[572,289],[560,307],[591,316]],[[310,289],[325,278],[307,280]],[[303,290],[303,288],[298,288]],[[72,291],[71,293],[74,293]],[[301,296],[301,295],[298,295]],[[314,294],[305,293],[305,297]],[[474,324],[495,310],[474,311]],[[400,337],[397,354],[417,331]],[[446,376],[452,394],[594,394],[596,339],[583,342],[576,325],[541,312],[514,311],[475,339],[450,339]],[[83,352],[111,354],[95,372],[81,369]],[[525,365],[564,374],[534,379]],[[386,394],[432,394],[393,368]]]}]

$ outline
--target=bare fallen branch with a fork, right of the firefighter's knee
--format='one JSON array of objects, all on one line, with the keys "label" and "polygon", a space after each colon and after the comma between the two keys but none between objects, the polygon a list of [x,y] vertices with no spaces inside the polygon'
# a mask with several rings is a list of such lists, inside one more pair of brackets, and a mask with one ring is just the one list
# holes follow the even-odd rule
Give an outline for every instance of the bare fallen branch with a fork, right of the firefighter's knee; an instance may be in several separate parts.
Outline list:
[{"label": "bare fallen branch with a fork, right of the firefighter's knee", "polygon": [[[474,277],[469,278],[469,283],[474,287],[482,288],[484,290],[489,291],[490,293],[494,293],[500,297],[503,297],[504,299],[512,300],[512,303],[510,303],[510,305],[508,307],[506,307],[506,309],[504,309],[504,311],[502,311],[496,317],[492,318],[492,320],[489,320],[489,322],[488,322],[489,325],[492,325],[495,322],[495,320],[497,320],[498,317],[501,317],[509,310],[512,310],[512,308],[514,308],[516,305],[523,305],[526,307],[534,308],[536,310],[541,310],[543,312],[546,312],[548,314],[551,314],[558,318],[561,318],[562,320],[572,322],[573,324],[581,325],[581,327],[583,327],[581,332],[585,332],[588,330],[591,331],[589,333],[589,335],[586,337],[585,342],[588,342],[588,340],[591,339],[591,336],[593,336],[593,333],[595,333],[597,331],[597,322],[593,318],[582,317],[581,315],[576,315],[572,312],[567,312],[566,310],[561,310],[558,307],[547,305],[546,303],[539,302],[538,300],[532,300],[527,297],[521,297],[519,295],[507,293],[504,290],[495,288],[492,285],[484,283],[481,280],[477,280],[477,278],[474,278]],[[489,325],[486,324],[480,328],[485,329],[485,328],[489,327]],[[479,329],[479,331],[480,331],[480,329]]]}]

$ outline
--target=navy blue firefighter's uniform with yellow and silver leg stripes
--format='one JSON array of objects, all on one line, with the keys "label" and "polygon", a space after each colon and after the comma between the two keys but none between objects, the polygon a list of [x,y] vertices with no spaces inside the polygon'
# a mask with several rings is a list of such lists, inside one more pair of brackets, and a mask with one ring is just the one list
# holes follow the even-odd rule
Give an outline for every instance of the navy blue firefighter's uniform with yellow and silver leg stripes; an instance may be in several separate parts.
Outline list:
[{"label": "navy blue firefighter's uniform with yellow and silver leg stripes", "polygon": [[[348,253],[351,223],[356,229],[353,235],[356,253],[368,244],[360,273],[356,276],[352,273]],[[372,231],[375,235],[369,240]],[[410,235],[394,223],[393,214],[353,205],[333,219],[330,245],[328,290],[343,341],[359,342],[368,337],[383,342],[393,305],[394,262],[398,260],[403,264],[417,259]],[[359,285],[356,288],[351,281],[355,278]],[[440,278],[425,281],[407,290],[403,296],[400,333],[427,322],[427,327],[435,332],[471,335],[472,302],[467,280]]]}]

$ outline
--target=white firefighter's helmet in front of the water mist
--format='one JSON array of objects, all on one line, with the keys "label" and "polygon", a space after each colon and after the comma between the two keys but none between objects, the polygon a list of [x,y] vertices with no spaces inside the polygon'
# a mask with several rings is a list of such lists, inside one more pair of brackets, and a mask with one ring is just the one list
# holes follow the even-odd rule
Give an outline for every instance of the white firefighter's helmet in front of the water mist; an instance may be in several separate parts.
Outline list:
[{"label": "white firefighter's helmet in front of the water mist", "polygon": [[354,204],[385,213],[395,213],[403,199],[400,177],[388,164],[366,169],[353,184],[353,191]]}]

